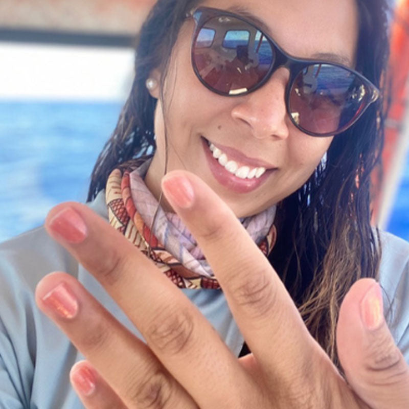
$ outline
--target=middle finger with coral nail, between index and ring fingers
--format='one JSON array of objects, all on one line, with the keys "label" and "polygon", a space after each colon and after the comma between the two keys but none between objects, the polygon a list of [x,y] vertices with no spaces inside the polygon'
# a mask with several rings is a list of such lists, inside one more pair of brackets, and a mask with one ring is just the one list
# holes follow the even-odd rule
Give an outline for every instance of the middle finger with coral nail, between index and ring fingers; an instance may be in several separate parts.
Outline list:
[{"label": "middle finger with coral nail, between index and ring fingers", "polygon": [[[102,218],[79,203],[64,203],[50,212],[46,228],[101,282],[200,407],[234,405],[258,396],[257,385],[205,317]],[[236,393],[226,399],[226,390]]]}]

